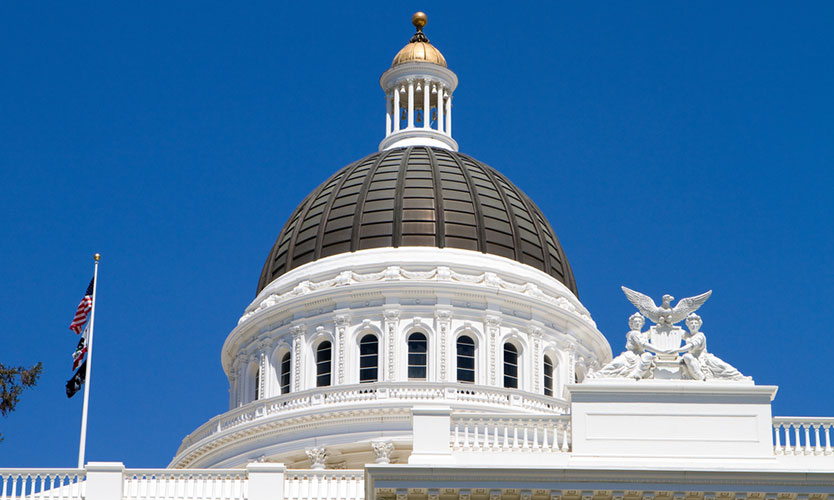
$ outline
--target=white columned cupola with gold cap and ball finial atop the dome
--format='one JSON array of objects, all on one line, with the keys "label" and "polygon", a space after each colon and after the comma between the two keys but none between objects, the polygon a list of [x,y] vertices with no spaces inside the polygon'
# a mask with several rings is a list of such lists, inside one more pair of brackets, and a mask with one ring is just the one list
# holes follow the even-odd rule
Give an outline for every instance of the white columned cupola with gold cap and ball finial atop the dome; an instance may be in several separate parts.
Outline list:
[{"label": "white columned cupola with gold cap and ball finial atop the dome", "polygon": [[379,84],[385,91],[385,138],[380,151],[407,146],[434,146],[452,151],[452,93],[458,77],[423,34],[426,15],[411,18],[417,32],[400,50]]}]

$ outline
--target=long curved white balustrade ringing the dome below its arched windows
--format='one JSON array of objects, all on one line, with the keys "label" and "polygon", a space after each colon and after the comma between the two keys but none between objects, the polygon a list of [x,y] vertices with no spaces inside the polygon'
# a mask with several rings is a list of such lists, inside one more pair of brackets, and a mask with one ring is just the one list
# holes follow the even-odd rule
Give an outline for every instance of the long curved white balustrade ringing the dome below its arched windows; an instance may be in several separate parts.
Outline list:
[{"label": "long curved white balustrade ringing the dome below its arched windows", "polygon": [[487,387],[457,383],[407,383],[379,382],[374,384],[320,387],[249,403],[212,418],[183,439],[180,451],[206,439],[260,418],[291,413],[311,407],[328,405],[362,404],[368,401],[389,400],[395,402],[463,401],[534,411],[564,414],[568,405],[561,399],[522,392],[516,389]]}]

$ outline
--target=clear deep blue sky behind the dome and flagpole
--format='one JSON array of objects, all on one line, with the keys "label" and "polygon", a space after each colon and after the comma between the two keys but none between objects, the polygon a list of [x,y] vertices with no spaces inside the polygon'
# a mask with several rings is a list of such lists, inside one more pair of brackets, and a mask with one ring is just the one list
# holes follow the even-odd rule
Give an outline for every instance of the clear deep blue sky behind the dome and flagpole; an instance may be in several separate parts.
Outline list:
[{"label": "clear deep blue sky behind the dome and flagpole", "polygon": [[100,271],[87,457],[167,465],[227,409],[220,347],[290,211],[376,150],[411,14],[461,151],[550,219],[615,352],[712,289],[710,350],[834,416],[831,2],[5,2],[0,361],[44,363],[0,467],[68,467],[67,329]]}]

